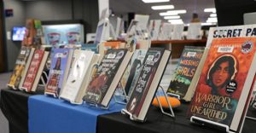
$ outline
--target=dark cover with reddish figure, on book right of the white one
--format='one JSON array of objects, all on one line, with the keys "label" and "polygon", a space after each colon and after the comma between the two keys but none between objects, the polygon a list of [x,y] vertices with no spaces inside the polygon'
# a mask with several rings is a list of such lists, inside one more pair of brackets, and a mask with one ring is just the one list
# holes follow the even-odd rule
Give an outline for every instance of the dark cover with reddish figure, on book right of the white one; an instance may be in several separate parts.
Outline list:
[{"label": "dark cover with reddish figure, on book right of the white one", "polygon": [[114,82],[113,78],[118,74],[126,53],[127,49],[108,49],[85,91],[84,101],[96,104],[102,102],[110,85]]}]

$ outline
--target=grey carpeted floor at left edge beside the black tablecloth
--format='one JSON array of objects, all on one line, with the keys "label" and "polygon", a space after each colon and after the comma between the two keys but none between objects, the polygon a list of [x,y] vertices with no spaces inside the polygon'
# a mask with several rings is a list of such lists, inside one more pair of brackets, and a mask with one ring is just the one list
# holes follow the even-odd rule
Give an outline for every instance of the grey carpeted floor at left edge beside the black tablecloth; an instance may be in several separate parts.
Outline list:
[{"label": "grey carpeted floor at left edge beside the black tablecloth", "polygon": [[[9,81],[11,72],[0,73],[0,90],[6,88],[6,84]],[[2,111],[0,110],[0,133],[9,133],[9,124],[8,120],[3,116]]]}]

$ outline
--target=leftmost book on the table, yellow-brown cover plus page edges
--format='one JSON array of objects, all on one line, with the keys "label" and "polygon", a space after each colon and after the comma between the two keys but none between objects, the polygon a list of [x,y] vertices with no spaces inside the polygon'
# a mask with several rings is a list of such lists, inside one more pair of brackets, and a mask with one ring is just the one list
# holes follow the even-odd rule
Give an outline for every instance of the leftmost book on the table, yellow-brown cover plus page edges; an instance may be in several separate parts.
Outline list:
[{"label": "leftmost book on the table, yellow-brown cover plus page edges", "polygon": [[27,67],[32,59],[34,50],[34,48],[26,46],[21,47],[20,55],[18,55],[15,62],[15,70],[11,74],[9,83],[7,84],[10,88],[17,90],[19,88],[20,81],[23,82],[22,77],[26,75]]}]

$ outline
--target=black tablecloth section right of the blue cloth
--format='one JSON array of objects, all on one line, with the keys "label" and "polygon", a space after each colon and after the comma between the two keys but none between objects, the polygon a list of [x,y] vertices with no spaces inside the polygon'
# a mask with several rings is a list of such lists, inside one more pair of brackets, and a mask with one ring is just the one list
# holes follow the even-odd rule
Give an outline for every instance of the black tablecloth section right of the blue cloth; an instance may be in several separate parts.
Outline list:
[{"label": "black tablecloth section right of the blue cloth", "polygon": [[[216,133],[222,132],[218,128],[210,128],[190,123],[186,118],[189,105],[182,105],[174,110],[176,119],[167,117],[159,108],[151,107],[145,123],[134,122],[127,115],[121,113],[105,114],[98,117],[97,133]],[[242,133],[256,130],[256,121],[246,119]]]}]

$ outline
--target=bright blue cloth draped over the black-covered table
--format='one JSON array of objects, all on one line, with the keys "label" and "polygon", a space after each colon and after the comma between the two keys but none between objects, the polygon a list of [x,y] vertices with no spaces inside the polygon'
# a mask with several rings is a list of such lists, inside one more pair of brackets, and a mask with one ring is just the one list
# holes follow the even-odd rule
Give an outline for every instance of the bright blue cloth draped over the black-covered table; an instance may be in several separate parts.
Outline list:
[{"label": "bright blue cloth draped over the black-covered table", "polygon": [[30,133],[96,133],[100,114],[119,112],[124,105],[111,102],[108,110],[88,105],[71,105],[45,95],[30,96],[28,126]]}]

